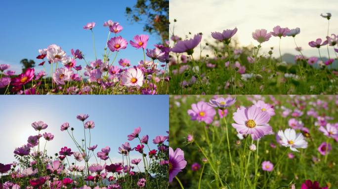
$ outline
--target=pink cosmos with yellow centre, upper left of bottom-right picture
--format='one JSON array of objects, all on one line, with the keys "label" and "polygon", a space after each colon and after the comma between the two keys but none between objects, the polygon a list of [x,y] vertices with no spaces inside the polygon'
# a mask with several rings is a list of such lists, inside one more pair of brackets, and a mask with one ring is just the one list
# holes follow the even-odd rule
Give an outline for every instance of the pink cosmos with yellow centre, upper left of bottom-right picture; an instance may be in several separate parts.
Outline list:
[{"label": "pink cosmos with yellow centre, upper left of bottom-right picture", "polygon": [[203,121],[206,124],[212,123],[216,111],[207,102],[200,101],[197,104],[191,104],[191,108],[192,109],[188,110],[191,120]]}]

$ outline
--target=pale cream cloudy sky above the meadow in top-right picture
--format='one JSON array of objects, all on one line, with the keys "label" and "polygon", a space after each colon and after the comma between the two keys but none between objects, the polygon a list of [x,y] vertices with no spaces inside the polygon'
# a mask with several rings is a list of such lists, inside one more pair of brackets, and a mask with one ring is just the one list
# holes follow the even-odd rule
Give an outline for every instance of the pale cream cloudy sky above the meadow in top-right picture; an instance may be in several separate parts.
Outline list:
[{"label": "pale cream cloudy sky above the meadow in top-right picture", "polygon": [[[328,6],[330,5],[330,6]],[[290,29],[299,27],[300,34],[296,36],[297,45],[304,50],[305,56],[318,56],[317,49],[308,45],[309,41],[316,38],[325,38],[327,34],[327,20],[320,16],[321,13],[331,12],[330,34],[338,33],[338,6],[337,0],[170,0],[169,17],[175,23],[175,34],[184,37],[188,32],[203,32],[203,40],[213,41],[211,32],[224,29],[238,28],[235,37],[240,45],[257,45],[252,38],[256,29],[267,29],[280,25]],[[278,38],[271,37],[262,44],[263,50],[268,51],[275,47],[274,55],[278,56]],[[296,54],[292,37],[282,38],[282,53]],[[326,47],[321,53],[327,56]],[[331,47],[330,54],[334,51]]]}]

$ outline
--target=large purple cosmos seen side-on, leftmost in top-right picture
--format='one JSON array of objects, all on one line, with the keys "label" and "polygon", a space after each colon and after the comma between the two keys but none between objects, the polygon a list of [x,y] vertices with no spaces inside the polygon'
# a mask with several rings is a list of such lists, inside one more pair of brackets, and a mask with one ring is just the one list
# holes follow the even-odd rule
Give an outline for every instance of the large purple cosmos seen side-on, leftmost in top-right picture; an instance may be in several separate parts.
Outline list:
[{"label": "large purple cosmos seen side-on, leftmost in top-right picture", "polygon": [[201,34],[195,34],[194,38],[180,40],[176,43],[176,45],[171,49],[171,52],[174,53],[184,53],[187,52],[188,55],[192,55],[194,53],[194,48],[200,44],[202,39]]}]

